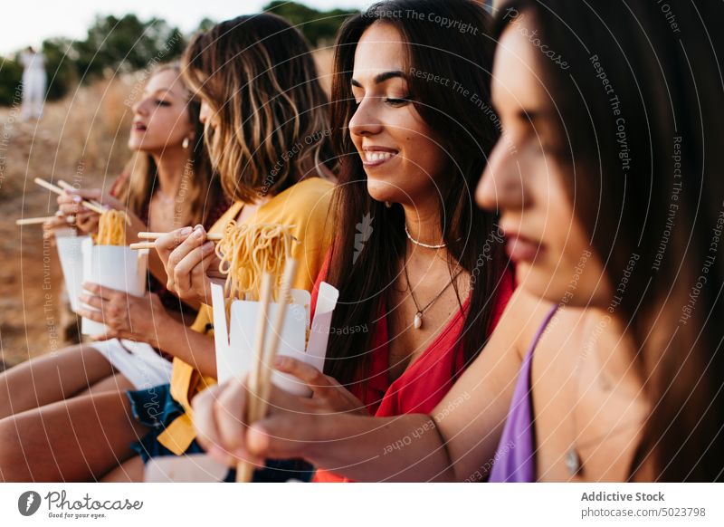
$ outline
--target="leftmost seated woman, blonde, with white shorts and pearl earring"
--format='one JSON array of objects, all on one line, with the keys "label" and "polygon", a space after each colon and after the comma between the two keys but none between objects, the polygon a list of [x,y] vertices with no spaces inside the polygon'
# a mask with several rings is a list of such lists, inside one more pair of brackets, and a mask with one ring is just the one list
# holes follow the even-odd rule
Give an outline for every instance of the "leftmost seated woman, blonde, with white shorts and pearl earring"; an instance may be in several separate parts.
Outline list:
[{"label": "leftmost seated woman, blonde, with white shorts and pearl earring", "polygon": [[[199,101],[191,97],[180,78],[179,66],[160,66],[133,106],[129,149],[137,152],[136,156],[115,180],[110,193],[90,189],[59,196],[62,215],[73,216],[80,232],[93,234],[98,230],[99,215],[79,202],[81,198],[97,199],[128,213],[129,240],[136,239],[139,231],[168,231],[196,223],[214,225],[231,201],[224,197],[219,177],[211,167],[199,110]],[[66,225],[64,218],[46,226],[52,230],[59,225]],[[152,254],[145,297],[127,297],[104,288],[104,312],[79,312],[109,326],[104,340],[58,350],[0,374],[0,390],[7,394],[0,398],[0,417],[89,391],[141,388],[148,379],[168,378],[170,362],[154,359],[150,350],[143,355],[147,361],[140,364],[123,360],[129,357],[128,350],[148,348],[144,343],[157,349],[165,345],[160,339],[164,332],[157,328],[181,326],[184,318],[193,321],[195,309],[168,292],[166,282],[166,271]],[[92,284],[87,284],[87,289],[100,292]],[[98,298],[90,294],[82,300],[99,305]]]}]

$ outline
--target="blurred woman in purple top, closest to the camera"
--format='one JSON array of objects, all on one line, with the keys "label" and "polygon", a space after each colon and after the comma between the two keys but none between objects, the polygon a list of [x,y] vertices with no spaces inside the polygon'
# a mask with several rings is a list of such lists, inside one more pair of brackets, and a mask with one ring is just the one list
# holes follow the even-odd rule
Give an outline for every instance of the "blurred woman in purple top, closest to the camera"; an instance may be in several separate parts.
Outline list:
[{"label": "blurred woman in purple top, closest to the camera", "polygon": [[214,456],[301,455],[366,481],[720,480],[724,267],[708,251],[724,129],[705,110],[720,84],[699,81],[719,67],[724,13],[672,9],[675,33],[648,4],[500,14],[492,94],[508,140],[478,201],[501,211],[520,289],[432,414],[323,416],[273,390],[247,432],[245,388],[229,383],[195,401]]}]

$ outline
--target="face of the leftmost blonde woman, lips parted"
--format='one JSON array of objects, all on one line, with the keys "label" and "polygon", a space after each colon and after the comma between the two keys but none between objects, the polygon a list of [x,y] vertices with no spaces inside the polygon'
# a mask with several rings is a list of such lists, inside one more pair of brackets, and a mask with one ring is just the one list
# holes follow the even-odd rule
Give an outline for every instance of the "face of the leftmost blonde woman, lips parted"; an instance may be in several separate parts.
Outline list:
[{"label": "face of the leftmost blonde woman, lips parted", "polygon": [[129,149],[160,153],[178,147],[186,138],[193,143],[187,103],[188,92],[178,73],[164,70],[153,75],[141,100],[133,105]]}]

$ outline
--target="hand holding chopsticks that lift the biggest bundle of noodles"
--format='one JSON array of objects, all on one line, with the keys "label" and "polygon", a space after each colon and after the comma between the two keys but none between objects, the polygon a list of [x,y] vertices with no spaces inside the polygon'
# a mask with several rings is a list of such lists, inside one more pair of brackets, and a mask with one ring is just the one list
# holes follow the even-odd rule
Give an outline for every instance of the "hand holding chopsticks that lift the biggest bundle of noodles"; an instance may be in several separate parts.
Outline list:
[{"label": "hand holding chopsticks that lift the biggest bundle of noodles", "polygon": [[168,291],[186,302],[211,305],[211,278],[219,259],[214,242],[206,241],[203,225],[176,229],[156,240],[158,257],[166,268]]}]

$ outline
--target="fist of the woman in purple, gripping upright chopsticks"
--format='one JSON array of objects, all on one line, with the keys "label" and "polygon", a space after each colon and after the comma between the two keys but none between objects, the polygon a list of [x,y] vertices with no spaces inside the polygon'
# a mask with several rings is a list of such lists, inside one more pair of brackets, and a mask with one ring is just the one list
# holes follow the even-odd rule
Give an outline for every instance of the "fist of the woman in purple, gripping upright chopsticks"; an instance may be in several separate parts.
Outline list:
[{"label": "fist of the woman in purple, gripping upright chopsticks", "polygon": [[217,461],[262,465],[264,458],[304,457],[305,446],[319,429],[310,398],[300,398],[271,386],[269,414],[247,426],[250,394],[245,381],[232,379],[205,389],[192,401],[194,425],[201,446]]}]

